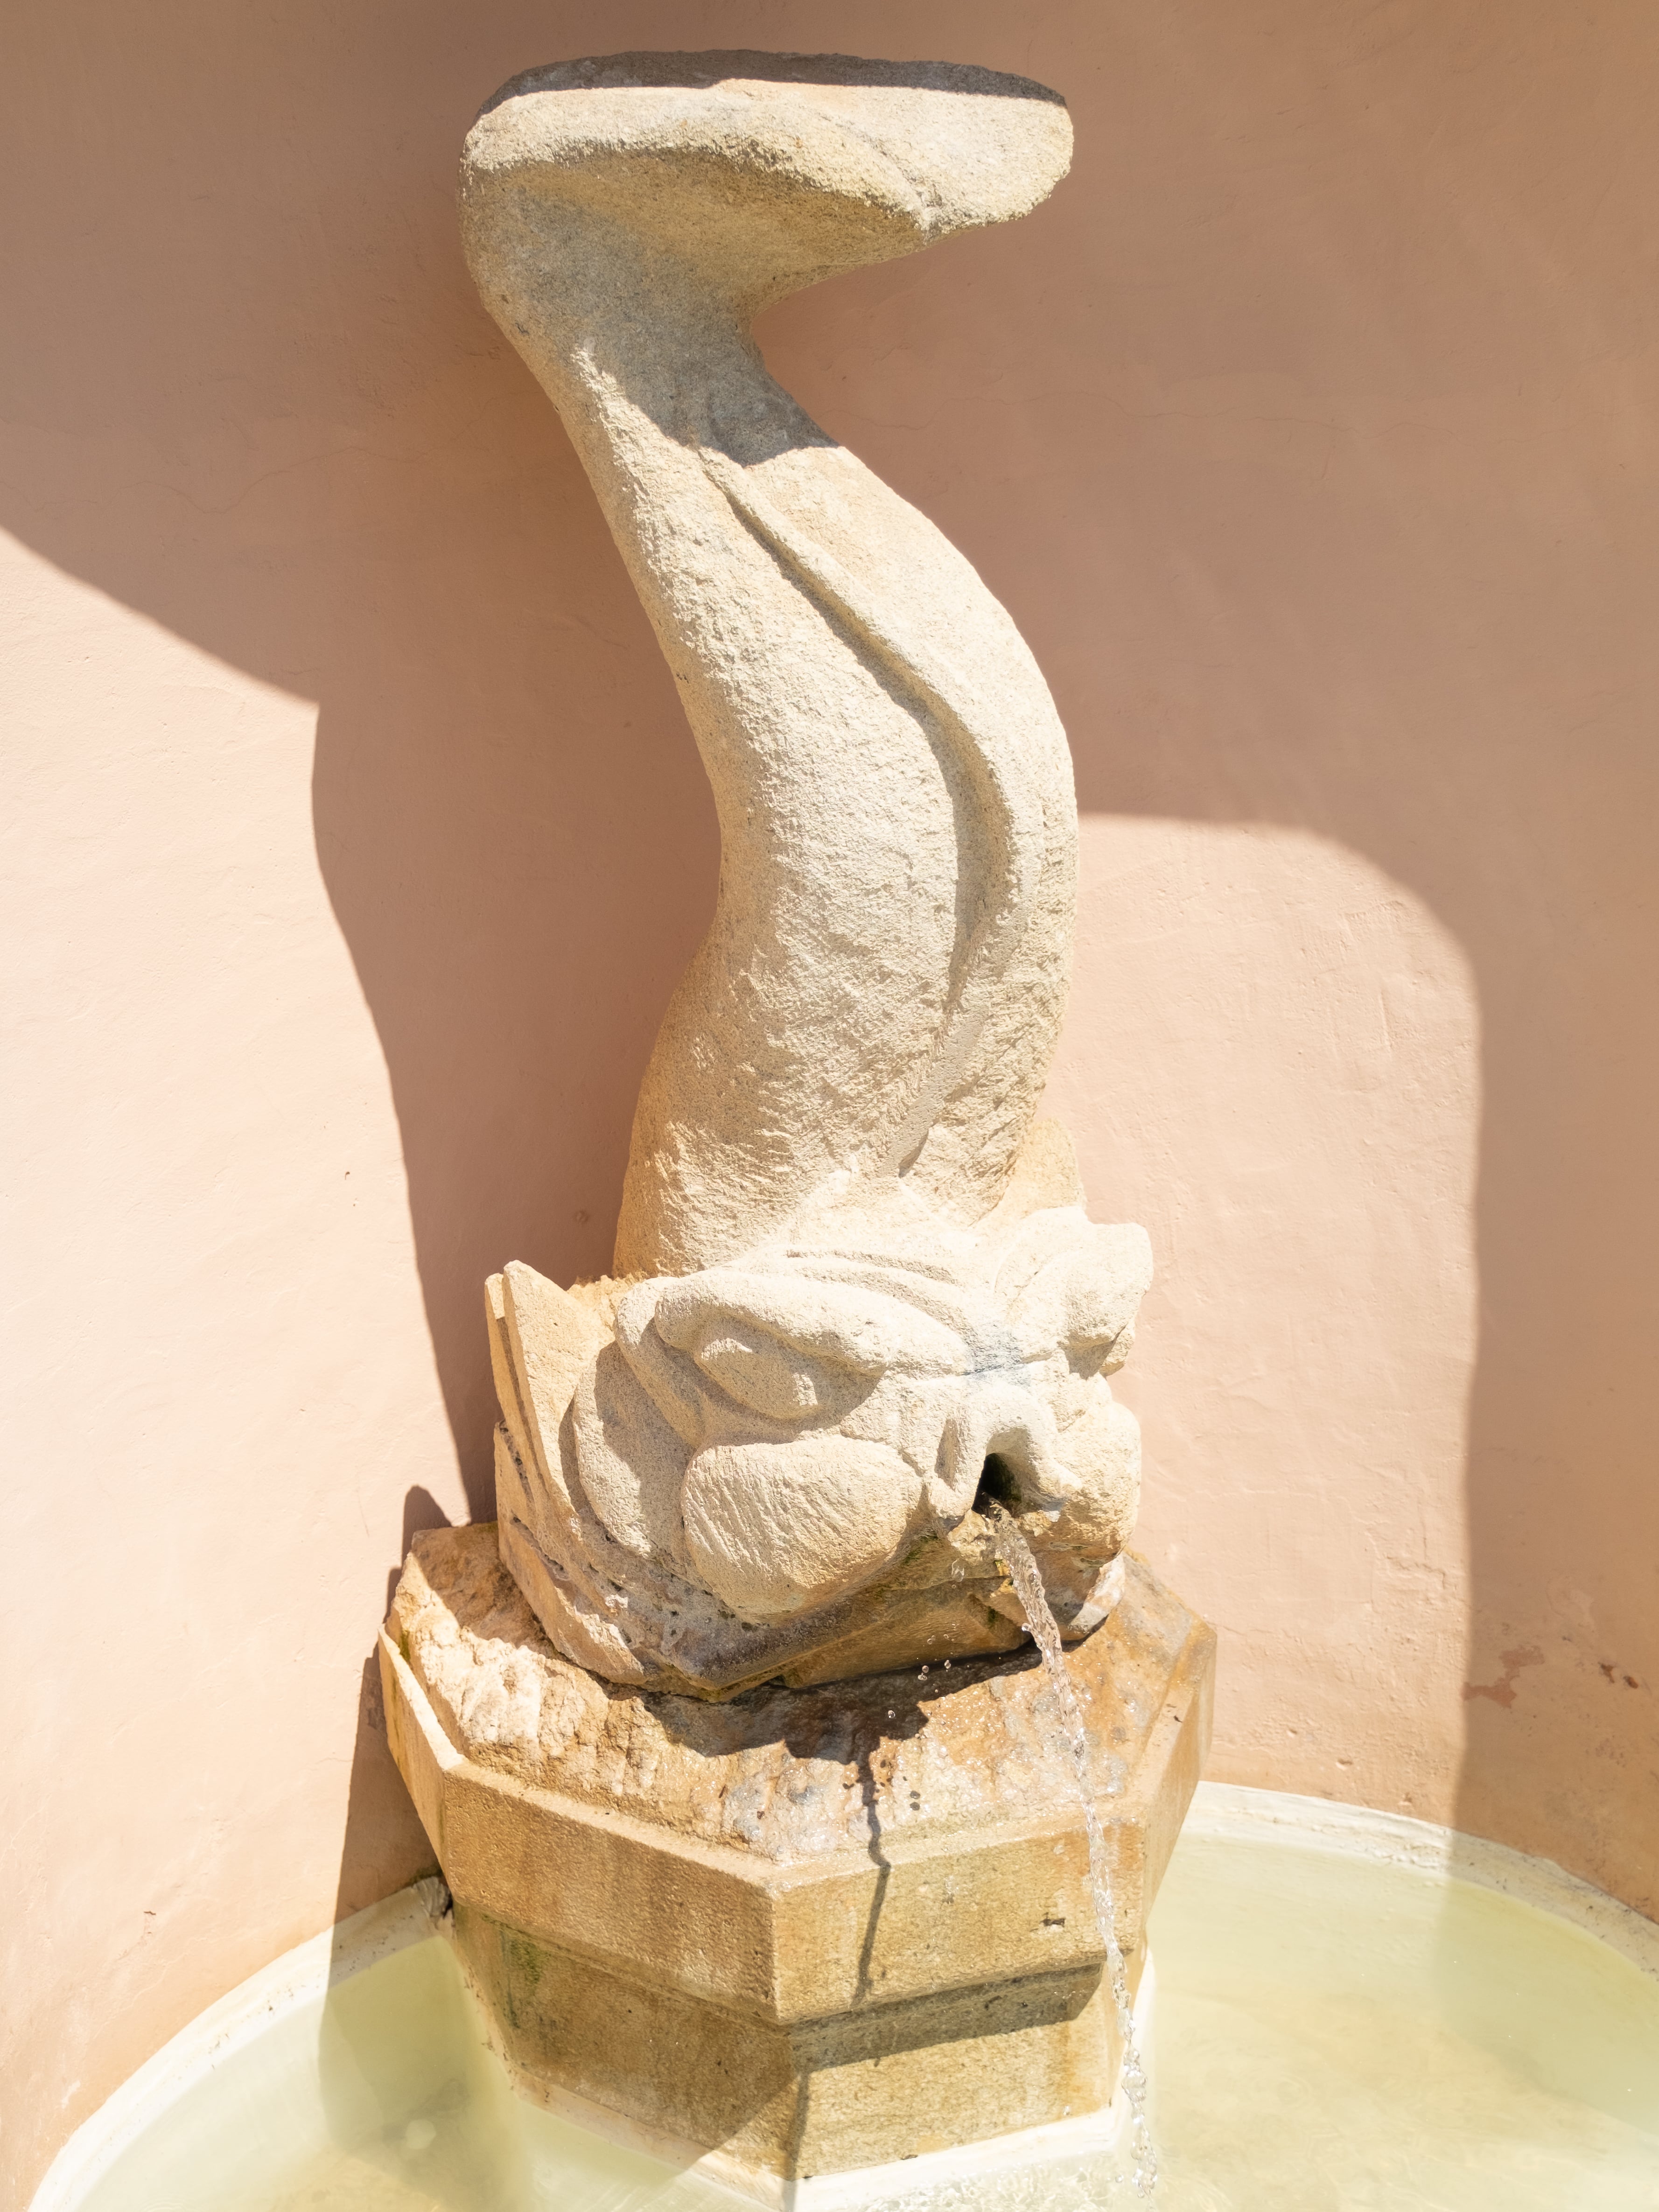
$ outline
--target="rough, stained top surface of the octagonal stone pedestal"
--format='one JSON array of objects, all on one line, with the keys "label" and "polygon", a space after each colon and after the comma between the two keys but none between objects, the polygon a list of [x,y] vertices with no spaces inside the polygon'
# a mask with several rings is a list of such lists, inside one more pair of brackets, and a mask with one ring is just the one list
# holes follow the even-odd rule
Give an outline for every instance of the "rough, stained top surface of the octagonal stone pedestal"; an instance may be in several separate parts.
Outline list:
[{"label": "rough, stained top surface of the octagonal stone pedestal", "polygon": [[[1124,1564],[1124,1597],[1086,1648],[1108,1796],[1144,1756],[1194,1632],[1146,1566]],[[1077,1790],[1029,1648],[732,1703],[628,1690],[553,1650],[487,1526],[416,1537],[392,1632],[445,1736],[480,1767],[759,1858],[1048,1818]]]}]

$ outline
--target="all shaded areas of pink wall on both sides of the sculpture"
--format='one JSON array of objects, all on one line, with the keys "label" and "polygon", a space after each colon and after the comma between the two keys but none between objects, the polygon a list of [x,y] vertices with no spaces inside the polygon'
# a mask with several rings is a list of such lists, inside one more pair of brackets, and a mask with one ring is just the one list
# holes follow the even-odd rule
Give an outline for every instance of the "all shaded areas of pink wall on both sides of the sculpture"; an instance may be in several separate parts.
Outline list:
[{"label": "all shaded areas of pink wall on both sides of the sculpture", "polygon": [[[971,49],[1071,95],[1051,210],[790,305],[770,345],[1009,604],[1086,807],[1343,841],[1467,947],[1460,1820],[1655,1911],[1659,434],[1635,372],[1659,288],[1632,272],[1659,210],[1626,153],[1655,22],[1064,0],[1040,35],[984,24],[686,0],[613,11],[604,42]],[[593,11],[69,0],[27,35],[49,66],[11,82],[73,97],[7,133],[27,343],[0,520],[319,701],[319,860],[487,1513],[482,1276],[604,1265],[714,885],[666,670],[456,241],[473,104],[588,51]]]}]

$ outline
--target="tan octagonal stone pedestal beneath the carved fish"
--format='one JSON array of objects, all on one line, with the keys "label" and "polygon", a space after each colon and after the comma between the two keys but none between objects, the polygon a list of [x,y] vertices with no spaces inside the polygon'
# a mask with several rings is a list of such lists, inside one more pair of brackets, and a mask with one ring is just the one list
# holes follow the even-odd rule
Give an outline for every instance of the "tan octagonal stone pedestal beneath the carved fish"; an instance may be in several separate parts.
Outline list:
[{"label": "tan octagonal stone pedestal beneath the carved fish", "polygon": [[[1137,1982],[1214,1637],[1130,1559],[1066,1663]],[[721,1705],[628,1690],[551,1648],[471,1526],[416,1537],[380,1668],[524,2095],[785,2194],[1110,2104],[1082,1807],[1033,1648]]]}]

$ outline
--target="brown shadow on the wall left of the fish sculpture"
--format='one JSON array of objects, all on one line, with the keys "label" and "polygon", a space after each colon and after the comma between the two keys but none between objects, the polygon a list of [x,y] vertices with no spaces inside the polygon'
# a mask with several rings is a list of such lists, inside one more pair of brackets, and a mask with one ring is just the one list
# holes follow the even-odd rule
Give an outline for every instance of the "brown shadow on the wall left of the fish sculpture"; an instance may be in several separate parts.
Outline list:
[{"label": "brown shadow on the wall left of the fish sculpture", "polygon": [[[484,1274],[608,1261],[639,1073],[717,865],[650,630],[460,263],[471,108],[551,35],[507,13],[442,62],[436,7],[42,18],[58,66],[13,82],[75,100],[11,131],[53,146],[11,201],[29,343],[0,504],[60,566],[319,701],[316,856],[392,1075],[478,1515]],[[166,73],[144,66],[157,38]]]}]

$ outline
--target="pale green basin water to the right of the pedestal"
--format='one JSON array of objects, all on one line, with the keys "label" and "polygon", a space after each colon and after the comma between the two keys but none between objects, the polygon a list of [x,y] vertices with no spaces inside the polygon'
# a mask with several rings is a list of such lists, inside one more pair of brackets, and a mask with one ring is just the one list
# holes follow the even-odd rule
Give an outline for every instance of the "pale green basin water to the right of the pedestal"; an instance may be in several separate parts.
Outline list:
[{"label": "pale green basin water to the right of the pedestal", "polygon": [[1152,1951],[1170,2212],[1659,2212],[1659,1982],[1593,1936],[1188,1838]]}]

